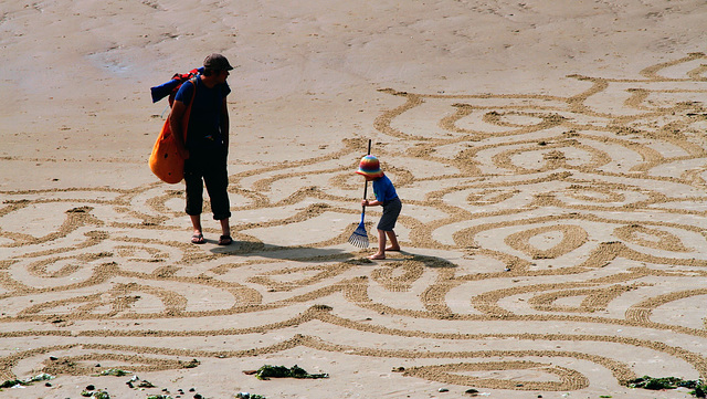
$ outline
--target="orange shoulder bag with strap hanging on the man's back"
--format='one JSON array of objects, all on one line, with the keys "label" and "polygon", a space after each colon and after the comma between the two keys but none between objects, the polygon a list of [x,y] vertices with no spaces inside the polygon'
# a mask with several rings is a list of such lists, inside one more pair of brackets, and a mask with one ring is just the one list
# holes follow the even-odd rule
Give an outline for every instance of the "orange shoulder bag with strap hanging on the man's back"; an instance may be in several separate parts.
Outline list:
[{"label": "orange shoulder bag with strap hanging on the man's back", "polygon": [[[189,102],[189,106],[184,112],[184,118],[182,120],[184,143],[187,141],[187,126],[189,126],[191,105],[197,96],[197,82],[192,80],[192,84],[194,85],[194,93],[191,96],[191,102]],[[172,129],[169,125],[170,119],[171,112],[167,117],[167,120],[165,120],[165,125],[157,137],[157,141],[155,141],[155,146],[152,146],[152,154],[150,155],[149,164],[150,170],[152,170],[152,174],[155,174],[155,176],[160,180],[170,185],[176,185],[184,178],[184,158],[179,155],[177,149],[177,141],[175,140],[175,135],[172,135]]]}]

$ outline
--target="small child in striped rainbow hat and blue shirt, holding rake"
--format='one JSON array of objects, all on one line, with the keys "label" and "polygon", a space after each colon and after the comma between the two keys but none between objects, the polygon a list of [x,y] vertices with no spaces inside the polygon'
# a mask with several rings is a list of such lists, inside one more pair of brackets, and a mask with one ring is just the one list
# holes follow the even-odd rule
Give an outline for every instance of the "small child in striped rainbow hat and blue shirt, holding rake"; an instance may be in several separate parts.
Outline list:
[{"label": "small child in striped rainbow hat and blue shirt, holding rake", "polygon": [[[357,174],[363,176],[366,181],[373,181],[374,201],[363,199],[361,206],[376,207],[383,206],[383,216],[378,222],[378,252],[368,256],[371,260],[386,259],[386,251],[400,251],[398,238],[393,229],[398,221],[398,216],[402,209],[402,202],[398,198],[395,188],[390,179],[380,170],[378,158],[367,155],[361,158]],[[386,248],[386,235],[390,239],[390,246]]]}]

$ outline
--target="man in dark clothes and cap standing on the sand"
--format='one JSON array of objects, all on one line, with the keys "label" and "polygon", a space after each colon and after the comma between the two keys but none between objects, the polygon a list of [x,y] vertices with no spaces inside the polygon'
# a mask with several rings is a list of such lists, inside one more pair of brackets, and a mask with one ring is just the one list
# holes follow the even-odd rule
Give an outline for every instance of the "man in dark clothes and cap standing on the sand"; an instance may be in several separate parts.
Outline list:
[{"label": "man in dark clothes and cap standing on the sand", "polygon": [[[177,92],[170,115],[170,127],[179,150],[186,159],[187,207],[184,211],[191,218],[193,227],[191,242],[194,244],[205,242],[201,229],[203,186],[205,185],[213,219],[221,222],[222,234],[219,245],[229,245],[233,242],[229,225],[231,203],[226,191],[229,185],[226,96],[231,93],[231,88],[225,81],[229,77],[229,71],[233,67],[221,54],[207,56],[203,67],[202,74],[193,81],[184,82]],[[190,103],[189,126],[182,126],[182,119]],[[186,143],[182,140],[184,128],[187,128]]]}]

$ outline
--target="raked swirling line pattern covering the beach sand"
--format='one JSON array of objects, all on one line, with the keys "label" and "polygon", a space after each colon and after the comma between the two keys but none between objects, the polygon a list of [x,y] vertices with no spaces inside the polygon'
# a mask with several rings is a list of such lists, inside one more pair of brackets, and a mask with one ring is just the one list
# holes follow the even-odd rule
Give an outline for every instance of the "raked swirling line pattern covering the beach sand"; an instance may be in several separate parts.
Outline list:
[{"label": "raked swirling line pattern covering the beach sand", "polygon": [[[305,349],[404,364],[393,385],[707,378],[706,62],[570,76],[587,90],[566,97],[383,90],[401,105],[371,120],[373,148],[404,202],[404,252],[381,262],[347,244],[363,137],[231,175],[228,248],[213,225],[188,243],[183,191],[159,182],[1,192],[0,378]],[[380,209],[367,216],[370,232]]]}]

